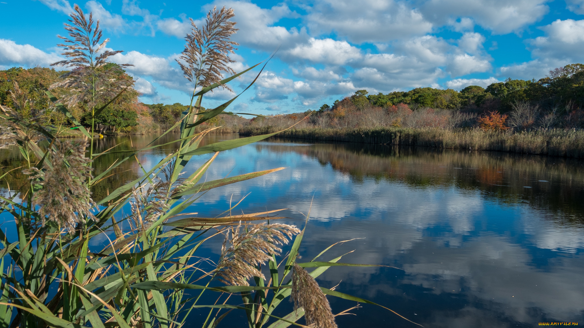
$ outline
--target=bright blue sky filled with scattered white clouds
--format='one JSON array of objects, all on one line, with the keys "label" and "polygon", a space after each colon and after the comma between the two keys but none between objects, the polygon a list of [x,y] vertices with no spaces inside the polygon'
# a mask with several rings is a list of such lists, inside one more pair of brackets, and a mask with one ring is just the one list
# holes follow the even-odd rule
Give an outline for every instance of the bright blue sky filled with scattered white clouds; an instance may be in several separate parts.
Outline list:
[{"label": "bright blue sky filled with scattered white clouds", "polygon": [[[213,6],[235,11],[240,45],[235,71],[265,60],[279,47],[235,111],[260,114],[318,109],[352,94],[416,87],[486,86],[539,79],[550,69],[584,62],[584,0],[298,0],[76,2],[100,20],[110,43],[124,50],[145,103],[187,103],[192,86],[175,59],[192,18]],[[58,61],[74,2],[3,0],[0,68]],[[237,93],[255,77],[232,83]],[[235,96],[219,90],[203,106]]]}]

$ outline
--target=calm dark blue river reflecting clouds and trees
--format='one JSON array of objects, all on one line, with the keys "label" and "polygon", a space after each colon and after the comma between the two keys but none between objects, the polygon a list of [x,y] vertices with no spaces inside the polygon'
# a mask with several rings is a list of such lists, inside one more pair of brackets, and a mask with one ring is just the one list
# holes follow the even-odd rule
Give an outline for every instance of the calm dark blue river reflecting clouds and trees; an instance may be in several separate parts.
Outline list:
[{"label": "calm dark blue river reflecting clouds and trees", "polygon": [[[154,137],[105,138],[96,146],[143,146]],[[231,138],[237,134],[206,142]],[[143,153],[138,160],[148,169],[172,148]],[[18,151],[0,155],[1,166],[19,162]],[[98,158],[98,172],[114,157]],[[193,158],[186,171],[208,158]],[[245,197],[234,212],[288,208],[280,214],[288,217],[282,222],[298,226],[310,211],[303,259],[341,240],[361,238],[332,247],[321,260],[354,250],[342,261],[396,267],[332,267],[319,284],[338,285],[338,291],[387,306],[425,327],[584,324],[583,165],[583,160],[500,152],[272,139],[220,153],[206,179],[286,169],[208,191],[193,207],[201,217],[215,216]],[[120,170],[125,172],[94,190],[96,198],[141,172],[135,160]],[[12,190],[20,178],[9,178]],[[5,191],[6,183],[1,186]],[[220,244],[211,243],[207,252],[218,254]],[[355,305],[330,300],[335,313]],[[286,306],[289,312],[291,305]],[[352,311],[356,316],[337,317],[339,327],[415,327],[383,308],[361,306]],[[239,318],[232,315],[220,326],[244,327]]]}]

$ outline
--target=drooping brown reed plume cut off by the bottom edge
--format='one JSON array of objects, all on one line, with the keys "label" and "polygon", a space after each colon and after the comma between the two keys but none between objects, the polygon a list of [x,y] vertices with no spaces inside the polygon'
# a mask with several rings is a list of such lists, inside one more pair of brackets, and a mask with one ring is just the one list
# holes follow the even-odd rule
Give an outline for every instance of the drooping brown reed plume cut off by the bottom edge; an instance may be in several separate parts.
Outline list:
[{"label": "drooping brown reed plume cut off by the bottom edge", "polygon": [[331,305],[318,287],[318,282],[296,263],[292,273],[291,300],[294,301],[294,310],[304,309],[307,324],[315,324],[318,328],[337,328]]}]

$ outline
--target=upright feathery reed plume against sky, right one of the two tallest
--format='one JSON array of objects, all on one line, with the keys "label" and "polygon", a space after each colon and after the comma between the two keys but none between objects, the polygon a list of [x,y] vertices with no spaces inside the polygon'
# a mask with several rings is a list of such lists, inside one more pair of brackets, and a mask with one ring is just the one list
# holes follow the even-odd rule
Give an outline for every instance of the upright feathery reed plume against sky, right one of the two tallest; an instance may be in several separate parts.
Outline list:
[{"label": "upright feathery reed plume against sky, right one of the two tallest", "polygon": [[[182,61],[176,62],[182,68],[185,78],[192,82],[195,88],[220,82],[221,71],[235,74],[229,67],[230,63],[235,62],[229,54],[234,53],[234,50],[237,50],[234,46],[239,45],[229,40],[231,34],[238,30],[234,27],[235,22],[229,20],[234,16],[233,9],[223,7],[217,11],[215,6],[207,13],[202,28],[190,20],[192,32],[185,37],[185,50],[180,56]],[[231,90],[227,85],[223,85],[223,88]]]}]

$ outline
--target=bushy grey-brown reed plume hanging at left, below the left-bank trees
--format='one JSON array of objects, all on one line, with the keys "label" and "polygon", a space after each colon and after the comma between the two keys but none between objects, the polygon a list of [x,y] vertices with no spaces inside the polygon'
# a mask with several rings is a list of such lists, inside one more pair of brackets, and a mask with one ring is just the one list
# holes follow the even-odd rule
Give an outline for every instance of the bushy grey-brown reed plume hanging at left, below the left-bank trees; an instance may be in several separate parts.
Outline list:
[{"label": "bushy grey-brown reed plume hanging at left, below the left-bank trees", "polygon": [[93,200],[87,186],[91,179],[91,159],[85,157],[85,141],[53,141],[43,169],[33,167],[24,170],[33,184],[41,186],[33,194],[33,206],[41,224],[53,221],[71,231],[78,223],[94,218],[91,208]]}]

